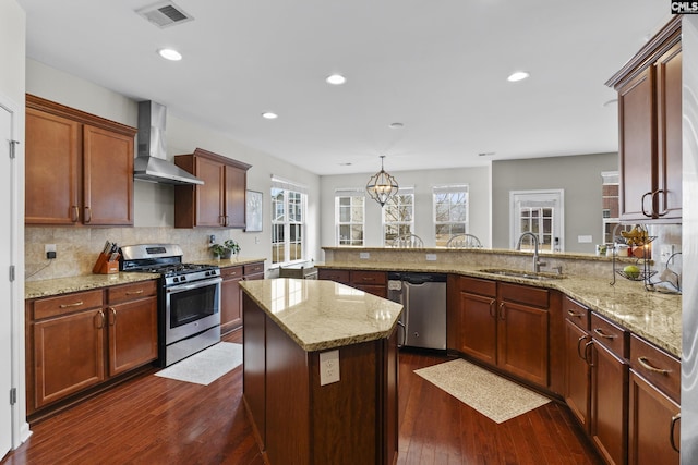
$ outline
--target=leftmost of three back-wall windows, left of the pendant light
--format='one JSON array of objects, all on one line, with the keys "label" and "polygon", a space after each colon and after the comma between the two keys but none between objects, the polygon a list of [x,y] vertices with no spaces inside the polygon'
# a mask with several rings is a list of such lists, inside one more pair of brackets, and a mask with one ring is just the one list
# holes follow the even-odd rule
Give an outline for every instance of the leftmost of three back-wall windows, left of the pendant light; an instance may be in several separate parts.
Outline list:
[{"label": "leftmost of three back-wall windows, left of the pendant light", "polygon": [[335,231],[338,246],[363,246],[364,212],[363,189],[335,192]]}]

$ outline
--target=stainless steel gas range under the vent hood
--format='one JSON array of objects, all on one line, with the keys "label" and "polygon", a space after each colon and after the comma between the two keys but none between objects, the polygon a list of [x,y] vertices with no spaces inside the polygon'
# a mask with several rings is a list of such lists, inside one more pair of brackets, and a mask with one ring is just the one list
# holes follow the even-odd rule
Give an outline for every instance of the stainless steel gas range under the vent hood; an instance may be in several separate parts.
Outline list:
[{"label": "stainless steel gas range under the vent hood", "polygon": [[177,244],[121,247],[121,271],[159,273],[158,354],[169,366],[220,342],[220,269],[182,262]]}]

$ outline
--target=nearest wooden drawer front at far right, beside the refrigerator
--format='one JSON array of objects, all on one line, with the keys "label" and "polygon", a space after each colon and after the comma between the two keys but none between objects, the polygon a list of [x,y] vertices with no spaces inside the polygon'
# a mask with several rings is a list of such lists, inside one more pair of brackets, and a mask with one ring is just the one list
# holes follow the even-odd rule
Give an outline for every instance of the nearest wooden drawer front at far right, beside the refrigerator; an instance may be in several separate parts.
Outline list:
[{"label": "nearest wooden drawer front at far right, beside the refrigerator", "polygon": [[674,402],[681,399],[681,362],[635,334],[630,335],[630,368]]}]

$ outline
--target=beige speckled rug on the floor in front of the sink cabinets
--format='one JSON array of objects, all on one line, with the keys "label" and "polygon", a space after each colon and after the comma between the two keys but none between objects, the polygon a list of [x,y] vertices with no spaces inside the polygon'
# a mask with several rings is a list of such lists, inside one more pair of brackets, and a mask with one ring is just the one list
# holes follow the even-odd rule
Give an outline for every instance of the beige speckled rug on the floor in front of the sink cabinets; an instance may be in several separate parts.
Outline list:
[{"label": "beige speckled rug on the floor in front of the sink cabinets", "polygon": [[496,423],[504,423],[550,399],[461,358],[414,372]]}]

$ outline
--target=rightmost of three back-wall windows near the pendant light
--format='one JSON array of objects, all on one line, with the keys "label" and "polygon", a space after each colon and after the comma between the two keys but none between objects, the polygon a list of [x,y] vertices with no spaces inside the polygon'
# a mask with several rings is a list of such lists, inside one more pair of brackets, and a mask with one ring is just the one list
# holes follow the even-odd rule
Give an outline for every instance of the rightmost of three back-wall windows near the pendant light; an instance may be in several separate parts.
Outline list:
[{"label": "rightmost of three back-wall windows near the pendant light", "polygon": [[436,186],[433,195],[436,247],[445,247],[450,237],[468,232],[468,186]]}]

